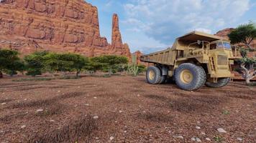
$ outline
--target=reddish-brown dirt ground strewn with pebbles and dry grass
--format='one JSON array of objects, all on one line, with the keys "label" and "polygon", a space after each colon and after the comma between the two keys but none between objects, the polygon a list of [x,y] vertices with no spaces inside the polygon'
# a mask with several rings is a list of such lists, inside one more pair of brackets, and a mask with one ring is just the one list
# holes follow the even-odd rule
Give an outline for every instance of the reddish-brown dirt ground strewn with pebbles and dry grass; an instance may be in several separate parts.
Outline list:
[{"label": "reddish-brown dirt ground strewn with pebbles and dry grass", "polygon": [[256,142],[256,87],[242,82],[186,92],[142,76],[12,80],[0,79],[0,142]]}]

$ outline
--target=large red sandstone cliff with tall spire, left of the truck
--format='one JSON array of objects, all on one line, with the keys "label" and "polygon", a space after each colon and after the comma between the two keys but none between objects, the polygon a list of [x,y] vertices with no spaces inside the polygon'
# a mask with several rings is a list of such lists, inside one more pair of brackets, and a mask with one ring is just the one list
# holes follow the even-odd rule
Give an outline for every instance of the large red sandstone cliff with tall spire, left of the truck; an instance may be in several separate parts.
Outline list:
[{"label": "large red sandstone cliff with tall spire, left of the truck", "polygon": [[22,55],[49,50],[131,56],[122,42],[117,14],[109,44],[101,37],[96,6],[83,0],[2,0],[0,29],[0,48],[17,49]]}]

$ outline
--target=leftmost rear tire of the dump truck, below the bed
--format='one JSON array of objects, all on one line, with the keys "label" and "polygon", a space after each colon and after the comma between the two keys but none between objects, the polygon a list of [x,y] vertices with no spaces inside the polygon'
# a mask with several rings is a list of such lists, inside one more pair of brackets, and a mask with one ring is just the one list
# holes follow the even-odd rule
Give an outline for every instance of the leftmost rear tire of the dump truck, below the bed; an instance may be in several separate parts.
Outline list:
[{"label": "leftmost rear tire of the dump truck, below the bed", "polygon": [[[150,75],[151,74],[151,75]],[[154,74],[154,76],[152,76]],[[149,84],[159,84],[161,78],[161,71],[158,69],[157,66],[150,66],[147,68],[147,74],[146,74],[147,82]]]}]

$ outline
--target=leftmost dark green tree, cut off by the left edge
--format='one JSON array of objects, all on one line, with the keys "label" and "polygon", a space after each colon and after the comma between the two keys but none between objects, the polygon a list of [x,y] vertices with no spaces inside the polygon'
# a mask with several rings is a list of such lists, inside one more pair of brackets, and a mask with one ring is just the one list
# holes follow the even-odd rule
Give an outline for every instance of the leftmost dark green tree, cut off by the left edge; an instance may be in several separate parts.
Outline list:
[{"label": "leftmost dark green tree, cut off by the left edge", "polygon": [[23,69],[24,64],[19,59],[18,51],[0,49],[0,78],[3,77],[2,71],[6,71],[7,74],[12,76]]}]

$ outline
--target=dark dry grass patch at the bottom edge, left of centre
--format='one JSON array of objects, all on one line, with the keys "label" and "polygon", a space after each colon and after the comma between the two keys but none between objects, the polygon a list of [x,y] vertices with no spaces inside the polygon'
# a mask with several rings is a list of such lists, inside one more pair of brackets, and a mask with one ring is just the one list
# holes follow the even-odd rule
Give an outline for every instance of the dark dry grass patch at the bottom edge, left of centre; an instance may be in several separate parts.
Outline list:
[{"label": "dark dry grass patch at the bottom edge, left of centre", "polygon": [[61,129],[56,129],[47,134],[37,134],[29,139],[29,143],[48,142],[78,142],[85,140],[90,142],[90,135],[98,129],[95,119],[92,117],[81,117]]}]

